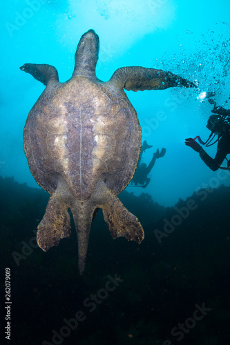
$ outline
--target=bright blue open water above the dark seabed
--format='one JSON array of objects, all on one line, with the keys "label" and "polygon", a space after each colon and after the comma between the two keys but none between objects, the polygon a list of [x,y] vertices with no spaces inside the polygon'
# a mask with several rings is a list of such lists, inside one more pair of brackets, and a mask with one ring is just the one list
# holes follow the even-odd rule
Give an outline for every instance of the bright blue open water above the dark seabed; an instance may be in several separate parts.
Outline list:
[{"label": "bright blue open water above the dark seabed", "polygon": [[[143,161],[148,164],[157,148],[166,148],[144,191],[160,204],[172,206],[209,184],[216,172],[184,145],[184,139],[209,135],[205,126],[212,106],[197,99],[200,92],[215,91],[215,101],[230,108],[229,15],[227,0],[2,3],[0,174],[37,186],[23,153],[22,132],[44,86],[19,66],[49,63],[59,71],[60,81],[66,81],[73,72],[79,38],[93,28],[100,39],[99,79],[110,79],[122,66],[144,66],[170,70],[199,83],[198,90],[127,92],[140,119],[142,139],[153,145]],[[212,157],[215,150],[216,146],[208,151]],[[229,178],[221,183],[229,185]],[[132,191],[138,195],[143,189]]]}]

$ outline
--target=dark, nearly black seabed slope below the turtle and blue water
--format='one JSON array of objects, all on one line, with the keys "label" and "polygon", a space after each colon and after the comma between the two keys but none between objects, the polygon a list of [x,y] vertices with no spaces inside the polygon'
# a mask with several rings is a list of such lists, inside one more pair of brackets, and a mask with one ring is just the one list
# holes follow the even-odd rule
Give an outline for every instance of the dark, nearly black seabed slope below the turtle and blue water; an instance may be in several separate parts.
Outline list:
[{"label": "dark, nearly black seabed slope below the turtle and blue water", "polygon": [[229,187],[201,190],[175,208],[124,191],[145,239],[114,241],[99,212],[82,276],[74,228],[47,253],[37,247],[48,194],[9,177],[0,178],[0,194],[8,344],[229,344]]}]

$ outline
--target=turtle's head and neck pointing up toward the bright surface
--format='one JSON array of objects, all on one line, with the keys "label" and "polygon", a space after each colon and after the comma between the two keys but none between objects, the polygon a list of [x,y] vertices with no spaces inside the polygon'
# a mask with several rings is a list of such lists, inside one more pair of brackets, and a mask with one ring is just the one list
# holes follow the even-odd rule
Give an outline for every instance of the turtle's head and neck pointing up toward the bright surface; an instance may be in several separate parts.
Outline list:
[{"label": "turtle's head and neck pointing up toward the bright surface", "polygon": [[99,53],[99,37],[94,30],[84,33],[75,53],[75,70],[73,77],[85,75],[95,77],[95,68]]}]

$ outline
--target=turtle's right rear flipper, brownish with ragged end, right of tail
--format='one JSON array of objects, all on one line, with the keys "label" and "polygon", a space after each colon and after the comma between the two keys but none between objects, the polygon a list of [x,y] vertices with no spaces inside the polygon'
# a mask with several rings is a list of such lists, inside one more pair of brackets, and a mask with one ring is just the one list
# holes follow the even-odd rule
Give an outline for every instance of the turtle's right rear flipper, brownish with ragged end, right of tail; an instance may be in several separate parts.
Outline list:
[{"label": "turtle's right rear flipper, brownish with ragged end, right of tail", "polygon": [[111,193],[110,201],[102,207],[102,211],[113,239],[124,236],[128,241],[142,242],[144,230],[140,221],[124,207],[118,197]]}]

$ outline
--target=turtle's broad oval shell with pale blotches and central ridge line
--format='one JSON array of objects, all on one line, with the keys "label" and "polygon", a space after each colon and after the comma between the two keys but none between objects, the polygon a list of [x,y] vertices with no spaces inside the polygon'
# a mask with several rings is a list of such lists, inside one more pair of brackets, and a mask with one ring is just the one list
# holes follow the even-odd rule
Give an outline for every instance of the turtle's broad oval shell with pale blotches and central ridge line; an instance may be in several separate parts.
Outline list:
[{"label": "turtle's broad oval shell with pale blotches and central ridge line", "polygon": [[62,175],[70,193],[85,200],[99,176],[115,194],[133,177],[141,130],[123,90],[74,77],[54,97],[35,105],[25,132],[37,146],[30,170],[48,191],[55,190]]}]

